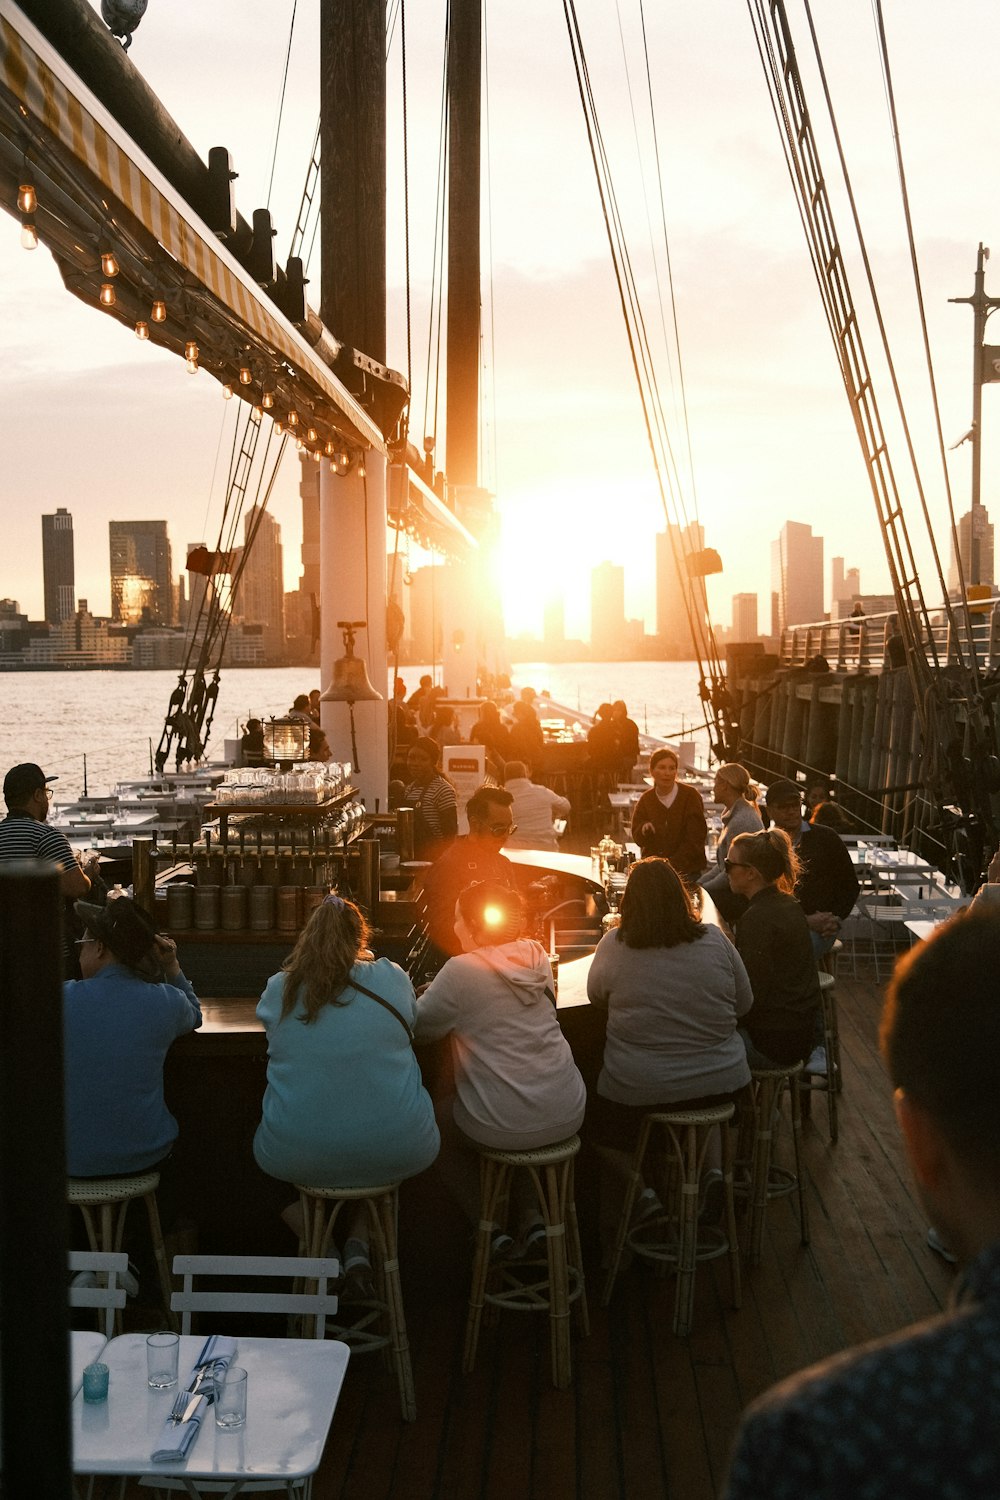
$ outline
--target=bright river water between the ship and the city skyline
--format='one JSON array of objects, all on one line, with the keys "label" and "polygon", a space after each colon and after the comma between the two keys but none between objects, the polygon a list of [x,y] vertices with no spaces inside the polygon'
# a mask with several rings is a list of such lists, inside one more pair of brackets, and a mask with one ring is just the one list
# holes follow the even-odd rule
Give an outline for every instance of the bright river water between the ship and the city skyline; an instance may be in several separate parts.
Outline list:
[{"label": "bright river water between the ship and the city skyline", "polygon": [[[402,676],[415,688],[424,670],[430,669],[405,668]],[[703,756],[703,730],[688,732],[702,723],[691,662],[525,662],[514,681],[547,690],[582,712],[622,698],[643,732],[694,740]],[[0,771],[36,760],[48,776],[58,776],[58,801],[84,790],[84,756],[91,794],[147,776],[175,684],[175,672],[0,672]],[[315,686],[318,674],[310,668],[223,672],[208,756],[222,758],[223,740],[237,738],[247,717],[285,714],[298,693]]]}]

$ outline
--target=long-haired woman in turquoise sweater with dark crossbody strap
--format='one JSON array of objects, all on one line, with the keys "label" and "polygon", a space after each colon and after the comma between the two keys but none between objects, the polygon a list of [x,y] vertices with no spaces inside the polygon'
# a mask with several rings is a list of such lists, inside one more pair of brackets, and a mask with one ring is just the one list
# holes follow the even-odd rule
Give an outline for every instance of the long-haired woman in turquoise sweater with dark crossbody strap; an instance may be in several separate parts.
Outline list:
[{"label": "long-haired woman in turquoise sweater with dark crossbody strap", "polygon": [[[438,1155],[411,1046],[414,987],[369,942],[354,902],[327,896],[256,1006],[267,1089],[253,1156],[282,1182],[363,1188],[414,1178]],[[358,1292],[370,1282],[363,1206],[346,1222],[343,1274]]]}]

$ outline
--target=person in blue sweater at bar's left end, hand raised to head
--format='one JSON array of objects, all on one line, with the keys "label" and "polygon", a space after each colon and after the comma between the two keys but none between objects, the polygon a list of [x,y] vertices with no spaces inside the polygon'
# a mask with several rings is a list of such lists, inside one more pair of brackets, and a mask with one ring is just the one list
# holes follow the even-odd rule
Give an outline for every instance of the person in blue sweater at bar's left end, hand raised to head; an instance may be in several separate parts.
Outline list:
[{"label": "person in blue sweater at bar's left end, hand raised to head", "polygon": [[63,986],[66,1172],[70,1178],[160,1173],[165,1222],[177,1184],[165,1170],[177,1120],[163,1098],[163,1062],[198,1030],[201,1005],[177,945],[129,896],[76,902],[81,980]]}]

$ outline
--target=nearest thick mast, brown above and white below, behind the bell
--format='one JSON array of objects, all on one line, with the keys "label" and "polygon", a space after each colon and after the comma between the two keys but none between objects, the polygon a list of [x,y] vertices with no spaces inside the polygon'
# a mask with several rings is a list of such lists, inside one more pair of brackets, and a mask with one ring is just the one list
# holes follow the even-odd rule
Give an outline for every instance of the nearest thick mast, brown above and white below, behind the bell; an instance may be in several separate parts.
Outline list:
[{"label": "nearest thick mast, brown above and white below, behind the bell", "polygon": [[[385,363],[385,0],[324,0],[319,8],[321,316],[345,344]],[[321,465],[319,663],[322,684],[343,656],[339,620],[364,620],[355,654],[387,692],[385,459],[354,456],[345,476]],[[355,784],[369,812],[388,795],[385,702],[358,702]],[[346,704],[322,705],[322,728],[351,758]]]}]

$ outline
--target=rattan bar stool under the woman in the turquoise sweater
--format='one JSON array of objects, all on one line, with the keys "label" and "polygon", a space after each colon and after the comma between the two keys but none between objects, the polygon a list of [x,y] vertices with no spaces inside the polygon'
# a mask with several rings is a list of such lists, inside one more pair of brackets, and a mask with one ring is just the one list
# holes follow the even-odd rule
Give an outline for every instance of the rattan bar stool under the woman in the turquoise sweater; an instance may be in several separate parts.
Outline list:
[{"label": "rattan bar stool under the woman in the turquoise sweater", "polygon": [[[399,1406],[403,1422],[414,1422],[417,1402],[414,1372],[409,1362],[403,1293],[399,1281],[399,1245],[396,1221],[399,1216],[399,1182],[385,1182],[364,1188],[315,1188],[295,1184],[303,1210],[301,1252],[322,1260],[333,1239],[334,1227],[345,1204],[363,1203],[369,1222],[369,1246],[372,1269],[376,1275],[376,1296],[363,1299],[355,1306],[363,1308],[355,1323],[328,1323],[333,1338],[343,1340],[357,1354],[385,1350],[396,1372]],[[379,1323],[384,1326],[379,1329]]]}]

